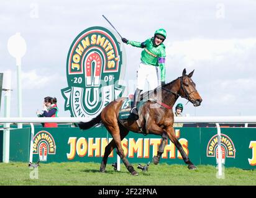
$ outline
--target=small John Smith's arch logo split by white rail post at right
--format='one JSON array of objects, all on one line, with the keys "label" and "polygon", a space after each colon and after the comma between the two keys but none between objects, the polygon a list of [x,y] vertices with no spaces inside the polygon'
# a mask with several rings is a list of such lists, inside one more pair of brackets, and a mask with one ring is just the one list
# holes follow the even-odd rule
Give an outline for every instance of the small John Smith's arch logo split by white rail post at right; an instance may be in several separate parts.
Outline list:
[{"label": "small John Smith's arch logo split by white rail post at right", "polygon": [[[207,157],[216,157],[218,163],[217,134],[209,140],[206,152]],[[222,163],[225,163],[226,157],[235,158],[235,145],[225,134],[221,134],[221,155]]]}]

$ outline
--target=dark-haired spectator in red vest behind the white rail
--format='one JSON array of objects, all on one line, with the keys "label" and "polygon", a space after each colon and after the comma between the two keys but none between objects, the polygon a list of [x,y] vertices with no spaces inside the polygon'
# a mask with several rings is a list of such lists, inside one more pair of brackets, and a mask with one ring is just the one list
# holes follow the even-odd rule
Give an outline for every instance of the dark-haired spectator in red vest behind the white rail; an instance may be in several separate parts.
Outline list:
[{"label": "dark-haired spectator in red vest behind the white rail", "polygon": [[[43,100],[42,113],[37,110],[38,117],[58,117],[57,98],[45,97]],[[58,127],[57,123],[43,123],[43,127]]]}]

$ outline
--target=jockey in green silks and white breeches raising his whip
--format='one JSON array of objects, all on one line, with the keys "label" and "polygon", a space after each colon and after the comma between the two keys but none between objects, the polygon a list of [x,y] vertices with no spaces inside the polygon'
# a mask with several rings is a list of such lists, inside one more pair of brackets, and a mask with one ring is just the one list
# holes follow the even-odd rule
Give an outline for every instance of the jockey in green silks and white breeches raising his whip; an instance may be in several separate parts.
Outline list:
[{"label": "jockey in green silks and white breeches raising his whip", "polygon": [[136,108],[140,101],[140,93],[144,88],[145,81],[149,82],[150,90],[158,86],[158,67],[160,67],[161,85],[165,85],[165,45],[163,41],[167,38],[165,29],[160,28],[155,31],[154,37],[147,39],[140,43],[137,41],[130,41],[122,38],[126,44],[135,46],[137,48],[144,48],[140,57],[140,65],[137,71],[137,86],[134,93],[134,102],[130,113],[138,116]]}]

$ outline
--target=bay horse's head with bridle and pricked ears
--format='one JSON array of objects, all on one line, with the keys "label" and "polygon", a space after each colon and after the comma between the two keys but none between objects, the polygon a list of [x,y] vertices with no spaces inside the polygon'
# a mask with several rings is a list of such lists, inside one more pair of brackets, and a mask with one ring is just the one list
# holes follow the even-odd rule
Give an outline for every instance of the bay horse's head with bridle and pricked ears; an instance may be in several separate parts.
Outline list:
[{"label": "bay horse's head with bridle and pricked ears", "polygon": [[188,101],[191,101],[194,106],[199,106],[203,99],[196,90],[196,84],[191,79],[193,73],[194,70],[190,72],[190,74],[186,75],[186,69],[183,70],[182,76],[178,78],[180,79],[179,95],[186,98]]}]

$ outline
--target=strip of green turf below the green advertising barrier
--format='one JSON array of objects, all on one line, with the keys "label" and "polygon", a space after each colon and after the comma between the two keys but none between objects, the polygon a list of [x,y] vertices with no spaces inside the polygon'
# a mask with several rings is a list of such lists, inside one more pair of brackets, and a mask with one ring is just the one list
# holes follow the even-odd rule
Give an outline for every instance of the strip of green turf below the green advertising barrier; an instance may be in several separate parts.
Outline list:
[{"label": "strip of green turf below the green advertising barrier", "polygon": [[30,179],[32,170],[27,163],[0,163],[1,185],[256,185],[256,171],[239,168],[225,168],[225,179],[216,178],[216,167],[198,166],[197,170],[188,170],[186,165],[150,164],[149,171],[139,176],[131,176],[121,164],[121,171],[114,171],[107,165],[106,173],[99,173],[99,163],[40,163],[38,179]]}]

